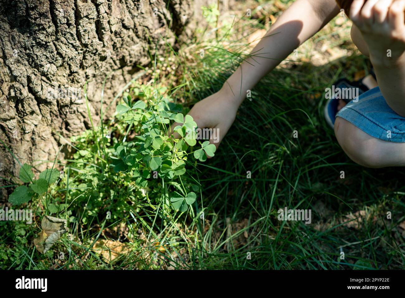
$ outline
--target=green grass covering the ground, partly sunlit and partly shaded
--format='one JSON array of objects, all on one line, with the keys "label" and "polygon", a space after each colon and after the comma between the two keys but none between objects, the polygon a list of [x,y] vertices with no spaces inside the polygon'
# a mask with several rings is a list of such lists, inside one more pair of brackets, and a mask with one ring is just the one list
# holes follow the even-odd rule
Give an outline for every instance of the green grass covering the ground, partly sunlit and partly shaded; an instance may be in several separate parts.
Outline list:
[{"label": "green grass covering the ground, partly sunlit and partly shaded", "polygon": [[[264,9],[274,11],[272,4]],[[240,62],[237,55],[249,52],[246,36],[266,26],[257,11],[252,16],[224,16],[217,34],[207,38],[213,28],[208,26],[179,52],[168,47],[126,88],[131,94],[142,84],[166,88],[164,94],[187,111],[219,90]],[[102,128],[111,129],[111,139],[94,127],[70,140],[62,151],[66,159],[57,161],[66,187],[55,185],[50,195],[69,205],[56,213],[69,218],[69,236],[39,255],[32,244],[36,227],[1,222],[2,231],[12,231],[0,233],[2,268],[403,269],[403,170],[356,165],[324,121],[322,90],[339,77],[367,71],[368,63],[348,43],[350,24],[337,26],[336,20],[302,45],[297,58],[287,59],[296,62],[283,62],[252,90],[252,101],[241,105],[213,159],[188,161],[183,182],[201,185],[190,212],[165,210],[158,188],[167,186],[158,184],[145,198],[130,177],[112,175],[96,156],[106,150],[100,153],[105,158],[114,144],[133,138],[134,128],[117,117]],[[311,57],[322,57],[322,47],[350,56],[315,63]],[[100,183],[92,184],[96,178]],[[30,206],[37,216],[44,214],[38,202]],[[311,209],[312,223],[279,221],[277,210],[284,207]],[[66,258],[58,259],[58,252]]]}]

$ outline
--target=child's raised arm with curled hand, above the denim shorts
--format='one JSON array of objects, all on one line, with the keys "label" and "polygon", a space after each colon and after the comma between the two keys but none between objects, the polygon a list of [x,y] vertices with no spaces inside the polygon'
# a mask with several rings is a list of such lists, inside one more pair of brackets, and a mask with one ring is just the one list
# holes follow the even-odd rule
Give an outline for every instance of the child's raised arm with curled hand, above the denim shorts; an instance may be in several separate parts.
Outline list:
[{"label": "child's raised arm with curled hand, above the denim shorts", "polygon": [[350,19],[370,52],[378,86],[387,104],[405,117],[405,0],[354,0]]}]

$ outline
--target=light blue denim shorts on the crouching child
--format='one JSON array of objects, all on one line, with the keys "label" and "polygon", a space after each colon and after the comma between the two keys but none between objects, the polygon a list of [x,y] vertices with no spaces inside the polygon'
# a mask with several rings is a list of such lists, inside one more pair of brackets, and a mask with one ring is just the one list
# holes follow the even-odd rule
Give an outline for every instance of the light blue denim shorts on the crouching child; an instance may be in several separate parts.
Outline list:
[{"label": "light blue denim shorts on the crouching child", "polygon": [[[358,101],[357,101],[358,99]],[[405,118],[386,103],[379,87],[368,90],[350,101],[336,117],[341,117],[365,133],[395,143],[405,143]]]}]

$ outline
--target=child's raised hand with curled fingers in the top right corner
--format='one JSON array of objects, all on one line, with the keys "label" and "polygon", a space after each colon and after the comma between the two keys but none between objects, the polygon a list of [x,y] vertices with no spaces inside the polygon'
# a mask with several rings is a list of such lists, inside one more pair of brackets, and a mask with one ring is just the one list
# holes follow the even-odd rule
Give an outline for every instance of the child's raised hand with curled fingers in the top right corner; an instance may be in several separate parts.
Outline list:
[{"label": "child's raised hand with curled fingers in the top right corner", "polygon": [[392,65],[404,59],[405,0],[354,0],[350,19],[362,33],[371,63]]}]

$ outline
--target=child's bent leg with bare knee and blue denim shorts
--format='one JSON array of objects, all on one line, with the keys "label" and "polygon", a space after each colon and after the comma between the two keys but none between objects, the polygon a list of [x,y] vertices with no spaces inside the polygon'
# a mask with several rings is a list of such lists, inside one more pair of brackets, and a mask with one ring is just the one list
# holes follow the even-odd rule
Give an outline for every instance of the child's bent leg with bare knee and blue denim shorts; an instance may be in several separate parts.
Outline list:
[{"label": "child's bent leg with bare knee and blue denim shorts", "polygon": [[405,117],[387,105],[378,87],[338,112],[335,135],[345,153],[360,165],[405,166]]}]

